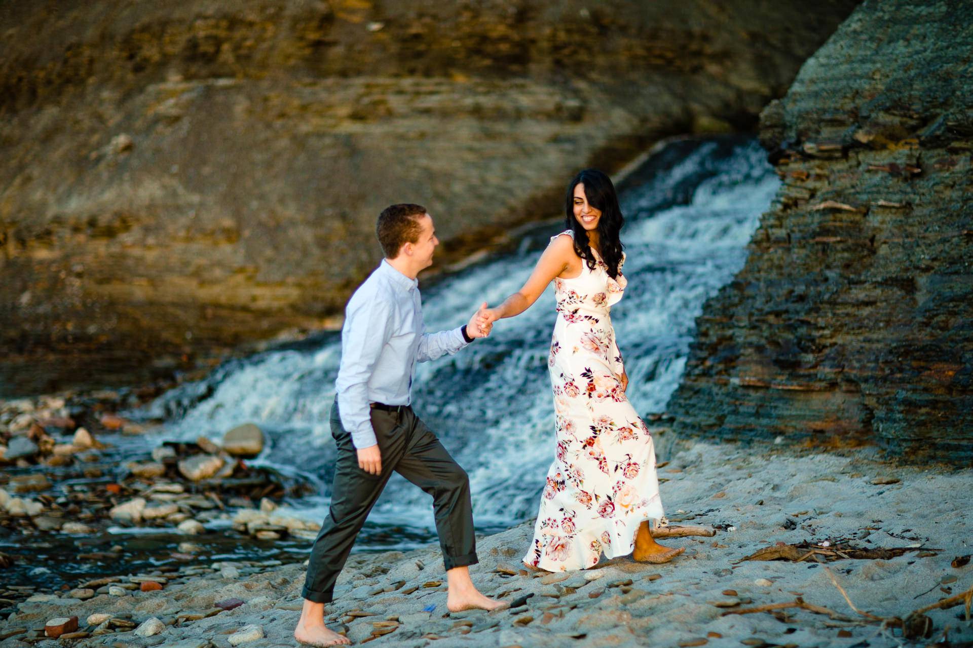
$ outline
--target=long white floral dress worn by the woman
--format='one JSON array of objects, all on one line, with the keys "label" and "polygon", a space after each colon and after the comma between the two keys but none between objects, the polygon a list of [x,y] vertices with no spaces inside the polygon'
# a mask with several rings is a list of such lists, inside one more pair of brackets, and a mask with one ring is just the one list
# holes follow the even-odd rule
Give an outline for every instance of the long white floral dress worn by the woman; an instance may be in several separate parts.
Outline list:
[{"label": "long white floral dress worn by the woman", "polygon": [[609,311],[626,283],[621,268],[613,279],[600,259],[594,270],[582,263],[577,277],[555,279],[548,365],[558,445],[523,558],[548,571],[591,567],[602,553],[631,554],[639,524],[664,520],[652,437],[619,380],[624,367]]}]

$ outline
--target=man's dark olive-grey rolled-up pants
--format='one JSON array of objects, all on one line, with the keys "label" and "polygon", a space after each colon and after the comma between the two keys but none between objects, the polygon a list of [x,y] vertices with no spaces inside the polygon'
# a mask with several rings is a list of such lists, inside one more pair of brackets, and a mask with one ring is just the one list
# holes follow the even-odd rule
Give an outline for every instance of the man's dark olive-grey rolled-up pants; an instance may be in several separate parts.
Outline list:
[{"label": "man's dark olive-grey rolled-up pants", "polygon": [[381,451],[381,475],[370,475],[358,467],[358,454],[351,435],[342,427],[338,403],[331,410],[331,435],[338,446],[338,458],[331,509],[307,561],[302,592],[307,600],[332,600],[335,581],[355,537],[392,471],[432,495],[447,570],[477,562],[470,483],[463,469],[412,408],[401,413],[373,409],[372,427]]}]

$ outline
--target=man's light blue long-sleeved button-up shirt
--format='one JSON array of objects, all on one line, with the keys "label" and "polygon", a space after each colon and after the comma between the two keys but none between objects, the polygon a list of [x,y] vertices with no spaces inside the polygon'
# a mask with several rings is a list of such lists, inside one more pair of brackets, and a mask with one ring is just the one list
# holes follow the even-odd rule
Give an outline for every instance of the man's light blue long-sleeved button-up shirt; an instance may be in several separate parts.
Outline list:
[{"label": "man's light blue long-sleeved button-up shirt", "polygon": [[415,363],[466,346],[461,327],[422,333],[418,281],[382,260],[344,309],[338,410],[355,448],[375,446],[371,403],[411,405]]}]

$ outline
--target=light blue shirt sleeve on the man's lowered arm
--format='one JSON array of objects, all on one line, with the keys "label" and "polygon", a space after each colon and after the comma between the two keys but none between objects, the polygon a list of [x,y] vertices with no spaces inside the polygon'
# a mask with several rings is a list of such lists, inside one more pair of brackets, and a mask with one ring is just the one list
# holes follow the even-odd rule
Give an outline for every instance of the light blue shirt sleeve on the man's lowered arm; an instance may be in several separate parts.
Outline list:
[{"label": "light blue shirt sleeve on the man's lowered arm", "polygon": [[368,381],[392,336],[392,304],[379,295],[348,304],[342,329],[342,362],[335,385],[342,426],[356,449],[375,446]]}]

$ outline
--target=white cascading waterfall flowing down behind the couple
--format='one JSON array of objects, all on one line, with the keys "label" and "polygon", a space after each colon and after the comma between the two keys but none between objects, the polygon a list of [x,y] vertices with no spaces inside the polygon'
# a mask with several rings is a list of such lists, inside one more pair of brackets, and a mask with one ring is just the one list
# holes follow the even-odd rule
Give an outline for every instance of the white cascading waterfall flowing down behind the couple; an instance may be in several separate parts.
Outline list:
[{"label": "white cascading waterfall flowing down behind the couple", "polygon": [[[737,137],[672,142],[621,186],[629,285],[612,308],[612,322],[637,412],[665,410],[685,366],[694,320],[706,298],[742,267],[746,243],[778,184],[764,151]],[[482,302],[495,306],[518,290],[548,237],[562,229],[526,234],[517,253],[423,289],[427,330],[459,326]],[[417,370],[415,411],[469,473],[481,530],[532,517],[554,458],[547,368],[553,291],[549,287],[522,315],[497,322],[487,340]],[[257,423],[270,443],[254,463],[318,484],[318,495],[289,504],[320,520],[333,470],[328,417],[340,354],[341,342],[332,335],[234,360],[164,394],[144,414],[166,419],[165,439],[218,439],[234,425]],[[358,549],[406,548],[434,534],[431,499],[396,475]]]}]

